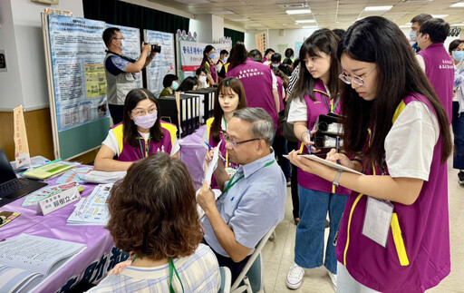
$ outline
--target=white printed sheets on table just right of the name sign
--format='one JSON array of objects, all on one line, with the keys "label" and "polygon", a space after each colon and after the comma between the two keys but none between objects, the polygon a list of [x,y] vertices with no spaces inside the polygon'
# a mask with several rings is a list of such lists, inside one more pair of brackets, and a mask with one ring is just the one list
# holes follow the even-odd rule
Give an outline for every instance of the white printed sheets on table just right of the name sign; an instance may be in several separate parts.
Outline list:
[{"label": "white printed sheets on table just right of the name sign", "polygon": [[105,226],[110,219],[106,200],[110,195],[113,183],[100,184],[91,195],[80,200],[67,220],[68,225],[75,226]]}]

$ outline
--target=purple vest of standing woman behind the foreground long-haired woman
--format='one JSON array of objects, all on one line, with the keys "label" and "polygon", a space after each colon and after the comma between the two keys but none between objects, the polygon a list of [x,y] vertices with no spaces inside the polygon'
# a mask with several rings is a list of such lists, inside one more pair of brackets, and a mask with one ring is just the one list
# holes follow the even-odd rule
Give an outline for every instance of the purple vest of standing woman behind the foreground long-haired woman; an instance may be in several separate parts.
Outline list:
[{"label": "purple vest of standing woman behind the foreground long-haired woman", "polygon": [[[319,115],[327,114],[329,112],[324,102],[324,95],[327,99],[327,103],[329,103],[330,106],[330,96],[325,92],[324,83],[321,80],[317,80],[314,85],[315,101],[309,97],[309,94],[304,95],[304,102],[306,103],[308,115],[308,129],[313,129],[314,123],[316,122]],[[335,101],[333,101],[333,103],[335,103]],[[340,114],[341,111],[342,99],[339,100],[333,112]],[[302,142],[298,143],[298,149],[301,149],[301,144]],[[304,147],[303,153],[308,153],[308,149],[306,147]],[[323,191],[327,193],[332,193],[333,189],[332,182],[326,181],[317,175],[303,171],[300,168],[298,168],[298,184],[308,190]],[[342,186],[335,188],[335,193],[337,194],[350,194],[350,192],[351,190],[347,190]]]}]

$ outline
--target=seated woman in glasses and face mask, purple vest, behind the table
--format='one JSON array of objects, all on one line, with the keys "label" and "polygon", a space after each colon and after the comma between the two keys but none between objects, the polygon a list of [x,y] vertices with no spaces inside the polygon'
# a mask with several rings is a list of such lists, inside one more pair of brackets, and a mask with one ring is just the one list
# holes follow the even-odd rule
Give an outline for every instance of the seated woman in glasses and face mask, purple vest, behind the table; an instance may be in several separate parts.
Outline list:
[{"label": "seated woman in glasses and face mask, purple vest, behind the table", "polygon": [[95,158],[95,170],[126,171],[134,161],[160,151],[179,157],[177,127],[161,121],[159,111],[160,103],[149,90],[129,92],[122,122],[114,125],[102,142]]}]

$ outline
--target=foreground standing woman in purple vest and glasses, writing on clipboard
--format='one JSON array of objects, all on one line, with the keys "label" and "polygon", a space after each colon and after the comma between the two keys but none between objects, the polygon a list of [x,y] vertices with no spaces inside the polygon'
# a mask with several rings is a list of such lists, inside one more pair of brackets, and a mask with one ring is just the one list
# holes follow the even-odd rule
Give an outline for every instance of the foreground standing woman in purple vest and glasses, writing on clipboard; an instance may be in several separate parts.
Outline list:
[{"label": "foreground standing woman in purple vest and glasses, writing on clipboard", "polygon": [[390,20],[357,21],[337,54],[347,83],[346,155],[331,151],[327,159],[365,176],[334,171],[296,151],[290,161],[353,190],[336,244],[340,292],[423,292],[450,271],[447,113]]}]

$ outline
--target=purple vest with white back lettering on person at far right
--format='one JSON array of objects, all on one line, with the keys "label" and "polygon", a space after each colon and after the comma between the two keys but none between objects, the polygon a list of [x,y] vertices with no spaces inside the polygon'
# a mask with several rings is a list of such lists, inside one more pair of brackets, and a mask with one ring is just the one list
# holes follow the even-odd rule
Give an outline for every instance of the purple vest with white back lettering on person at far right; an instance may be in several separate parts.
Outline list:
[{"label": "purple vest with white back lettering on person at far right", "polygon": [[430,44],[427,49],[420,51],[418,54],[424,58],[425,74],[429,78],[435,93],[439,96],[448,114],[449,124],[451,124],[454,83],[453,60],[443,47],[443,43]]}]

